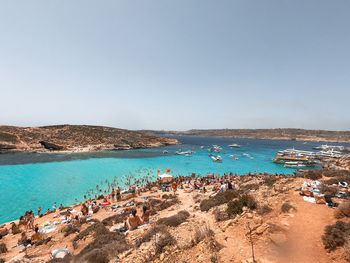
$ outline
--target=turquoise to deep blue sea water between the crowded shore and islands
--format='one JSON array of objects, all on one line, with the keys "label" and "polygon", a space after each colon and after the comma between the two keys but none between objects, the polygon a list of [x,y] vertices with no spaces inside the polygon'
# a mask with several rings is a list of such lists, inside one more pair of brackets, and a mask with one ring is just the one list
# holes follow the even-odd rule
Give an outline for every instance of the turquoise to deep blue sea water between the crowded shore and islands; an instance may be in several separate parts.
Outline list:
[{"label": "turquoise to deep blue sea water between the crowded shore and islands", "polygon": [[[171,169],[172,175],[206,175],[233,172],[292,173],[294,170],[274,164],[278,150],[295,147],[311,150],[323,143],[282,140],[232,139],[213,137],[174,136],[183,144],[163,148],[98,153],[17,153],[0,154],[0,223],[18,219],[26,210],[43,211],[57,205],[71,205],[82,201],[89,189],[107,188],[107,182],[124,176],[156,178],[157,171]],[[237,143],[241,148],[228,147]],[[209,158],[207,148],[213,144],[223,147],[222,163]],[[332,145],[334,143],[331,143]],[[200,146],[205,149],[200,149]],[[346,144],[343,144],[346,145]],[[192,157],[175,155],[175,151],[193,150]],[[168,150],[168,154],[163,154]],[[254,159],[243,155],[248,153]],[[215,153],[214,153],[215,154]],[[233,154],[239,160],[228,156]],[[124,181],[123,181],[124,180]]]}]

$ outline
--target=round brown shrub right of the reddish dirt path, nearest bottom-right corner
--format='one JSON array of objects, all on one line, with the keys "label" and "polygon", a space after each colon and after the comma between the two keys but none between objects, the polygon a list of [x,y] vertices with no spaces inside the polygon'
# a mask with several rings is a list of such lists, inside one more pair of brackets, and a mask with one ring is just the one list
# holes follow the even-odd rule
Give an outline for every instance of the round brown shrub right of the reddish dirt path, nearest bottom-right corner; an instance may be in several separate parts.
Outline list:
[{"label": "round brown shrub right of the reddish dirt path, nearest bottom-right corner", "polygon": [[325,248],[331,251],[343,246],[349,234],[350,224],[337,221],[334,225],[326,226],[322,241]]}]

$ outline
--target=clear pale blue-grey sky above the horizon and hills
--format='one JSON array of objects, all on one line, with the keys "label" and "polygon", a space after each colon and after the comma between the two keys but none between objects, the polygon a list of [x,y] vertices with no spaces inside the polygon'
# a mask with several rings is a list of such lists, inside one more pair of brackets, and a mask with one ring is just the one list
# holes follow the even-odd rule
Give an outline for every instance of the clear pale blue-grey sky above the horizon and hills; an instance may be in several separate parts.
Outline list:
[{"label": "clear pale blue-grey sky above the horizon and hills", "polygon": [[0,124],[350,130],[349,0],[0,0]]}]

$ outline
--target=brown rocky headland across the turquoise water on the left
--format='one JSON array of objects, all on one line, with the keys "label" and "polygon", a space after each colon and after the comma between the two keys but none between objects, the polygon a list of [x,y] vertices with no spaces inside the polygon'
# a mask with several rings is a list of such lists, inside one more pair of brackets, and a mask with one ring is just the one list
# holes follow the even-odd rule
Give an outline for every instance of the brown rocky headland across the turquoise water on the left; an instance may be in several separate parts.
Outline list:
[{"label": "brown rocky headland across the turquoise water on the left", "polygon": [[128,150],[178,143],[176,139],[102,126],[0,126],[0,153]]}]

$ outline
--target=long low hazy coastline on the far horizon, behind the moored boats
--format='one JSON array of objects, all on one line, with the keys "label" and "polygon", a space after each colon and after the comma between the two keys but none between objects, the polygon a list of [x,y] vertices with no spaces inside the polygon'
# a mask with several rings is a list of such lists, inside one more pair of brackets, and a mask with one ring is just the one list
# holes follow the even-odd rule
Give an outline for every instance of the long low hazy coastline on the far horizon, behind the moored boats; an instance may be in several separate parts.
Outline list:
[{"label": "long low hazy coastline on the far horizon, behind the moored boats", "polygon": [[350,142],[350,131],[326,131],[304,129],[193,129],[188,131],[142,130],[152,135],[189,135],[227,138],[251,138],[269,140],[295,140],[320,142]]}]

